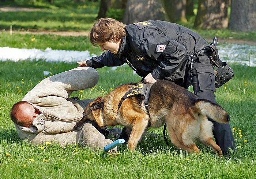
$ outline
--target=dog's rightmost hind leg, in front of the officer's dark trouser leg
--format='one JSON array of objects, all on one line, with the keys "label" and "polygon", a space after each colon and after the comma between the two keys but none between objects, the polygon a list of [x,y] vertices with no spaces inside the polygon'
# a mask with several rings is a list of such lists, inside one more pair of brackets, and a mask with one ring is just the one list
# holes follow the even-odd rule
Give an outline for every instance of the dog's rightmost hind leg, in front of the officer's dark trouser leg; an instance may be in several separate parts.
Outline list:
[{"label": "dog's rightmost hind leg, in front of the officer's dark trouser leg", "polygon": [[197,140],[204,145],[211,147],[219,156],[222,156],[221,148],[212,139],[212,123],[208,121],[206,116],[199,115],[199,118],[201,118],[201,123]]}]

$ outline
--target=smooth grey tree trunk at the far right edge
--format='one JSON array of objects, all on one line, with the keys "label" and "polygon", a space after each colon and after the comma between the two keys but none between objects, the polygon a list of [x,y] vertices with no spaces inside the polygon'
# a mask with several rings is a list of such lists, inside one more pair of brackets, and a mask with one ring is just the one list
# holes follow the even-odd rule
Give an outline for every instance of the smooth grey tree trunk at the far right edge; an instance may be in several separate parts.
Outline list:
[{"label": "smooth grey tree trunk at the far right edge", "polygon": [[256,31],[255,0],[232,0],[229,29],[234,31]]}]

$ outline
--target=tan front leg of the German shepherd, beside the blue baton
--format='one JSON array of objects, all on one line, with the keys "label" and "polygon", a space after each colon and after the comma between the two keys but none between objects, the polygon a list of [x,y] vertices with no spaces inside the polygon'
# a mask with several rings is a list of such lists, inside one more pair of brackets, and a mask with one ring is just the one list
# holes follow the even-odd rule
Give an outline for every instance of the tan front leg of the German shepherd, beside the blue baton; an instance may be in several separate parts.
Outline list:
[{"label": "tan front leg of the German shepherd, beside the blue baton", "polygon": [[132,124],[132,132],[128,141],[128,148],[130,150],[134,150],[137,147],[137,144],[142,137],[142,134],[146,130],[148,126],[148,117],[144,116],[144,118],[136,118]]}]

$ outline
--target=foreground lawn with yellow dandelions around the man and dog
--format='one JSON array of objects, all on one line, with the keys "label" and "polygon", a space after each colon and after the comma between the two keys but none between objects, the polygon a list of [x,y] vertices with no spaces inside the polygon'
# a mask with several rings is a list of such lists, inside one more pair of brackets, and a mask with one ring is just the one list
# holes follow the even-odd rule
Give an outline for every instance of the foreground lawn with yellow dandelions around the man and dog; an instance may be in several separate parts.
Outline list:
[{"label": "foreground lawn with yellow dandelions around the man and dog", "polygon": [[[215,93],[217,102],[231,116],[230,126],[242,130],[241,138],[234,132],[236,144],[241,147],[231,154],[231,159],[218,158],[202,144],[198,144],[202,151],[200,155],[188,154],[172,144],[166,146],[162,128],[150,129],[150,132],[158,135],[144,139],[134,153],[130,153],[126,145],[118,147],[117,157],[75,145],[61,148],[58,144],[44,144],[42,146],[45,149],[40,149],[38,145],[21,141],[8,115],[12,105],[22,100],[27,91],[44,79],[44,70],[56,74],[75,67],[75,63],[46,63],[43,60],[0,62],[0,178],[255,177],[256,78],[252,75],[256,74],[255,67],[232,65],[234,79]],[[109,92],[110,88],[140,80],[127,66],[118,67],[115,71],[104,67],[98,71],[100,79],[96,87],[82,93],[74,92],[72,96],[79,96],[81,99],[96,98]],[[248,142],[245,143],[244,140]],[[6,156],[6,153],[11,155]],[[30,158],[35,161],[31,162]],[[43,159],[49,162],[43,162]],[[85,163],[85,160],[90,163]]]}]

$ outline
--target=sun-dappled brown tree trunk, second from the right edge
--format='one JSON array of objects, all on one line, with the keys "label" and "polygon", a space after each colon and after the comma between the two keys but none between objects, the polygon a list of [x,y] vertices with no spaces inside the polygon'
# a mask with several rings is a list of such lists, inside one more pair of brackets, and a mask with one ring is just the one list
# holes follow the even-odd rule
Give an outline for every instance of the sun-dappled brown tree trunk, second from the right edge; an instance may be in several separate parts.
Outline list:
[{"label": "sun-dappled brown tree trunk, second from the right edge", "polygon": [[199,0],[194,27],[197,29],[227,28],[229,0]]}]

